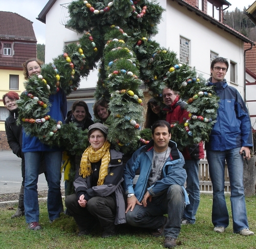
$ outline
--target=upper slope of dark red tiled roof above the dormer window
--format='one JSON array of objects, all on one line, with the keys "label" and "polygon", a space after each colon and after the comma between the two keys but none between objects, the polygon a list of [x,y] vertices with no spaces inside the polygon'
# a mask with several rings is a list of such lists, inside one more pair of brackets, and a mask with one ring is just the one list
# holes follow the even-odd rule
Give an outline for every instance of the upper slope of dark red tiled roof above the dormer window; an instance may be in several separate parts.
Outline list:
[{"label": "upper slope of dark red tiled roof above the dormer window", "polygon": [[0,39],[35,41],[33,22],[12,12],[0,11]]}]

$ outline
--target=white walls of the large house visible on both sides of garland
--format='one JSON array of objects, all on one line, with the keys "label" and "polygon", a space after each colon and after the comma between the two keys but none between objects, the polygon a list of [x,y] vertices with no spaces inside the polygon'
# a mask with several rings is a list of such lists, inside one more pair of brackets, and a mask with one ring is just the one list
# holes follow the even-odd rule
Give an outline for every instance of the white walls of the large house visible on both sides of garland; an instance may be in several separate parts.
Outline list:
[{"label": "white walls of the large house visible on both sides of garland", "polygon": [[[70,3],[65,0],[57,0],[46,16],[46,62],[62,54],[64,43],[75,41],[81,35],[70,31],[60,24],[63,11],[60,4]],[[160,0],[159,3],[166,9],[163,13],[163,21],[158,26],[159,34],[154,37],[162,47],[169,48],[177,53],[179,58],[180,36],[190,40],[190,66],[195,66],[198,73],[207,79],[210,74],[210,51],[218,53],[237,63],[238,85],[230,83],[229,72],[226,79],[228,83],[236,87],[243,97],[244,85],[244,56],[243,41],[235,36],[212,25],[195,12],[188,11],[176,1]],[[62,12],[61,12],[62,11]],[[97,71],[89,76],[88,81],[83,80],[80,88],[95,87]]]}]

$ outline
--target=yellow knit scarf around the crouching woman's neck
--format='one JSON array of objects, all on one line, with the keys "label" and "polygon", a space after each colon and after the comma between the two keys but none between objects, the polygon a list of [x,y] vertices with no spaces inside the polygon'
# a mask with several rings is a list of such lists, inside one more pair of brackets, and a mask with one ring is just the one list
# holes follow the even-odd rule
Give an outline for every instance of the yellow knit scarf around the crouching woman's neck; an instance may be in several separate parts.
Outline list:
[{"label": "yellow knit scarf around the crouching woman's neck", "polygon": [[91,163],[97,163],[101,159],[99,169],[99,179],[97,185],[102,185],[106,175],[108,175],[108,167],[110,163],[110,142],[105,141],[103,146],[95,151],[92,146],[89,146],[82,154],[82,159],[79,168],[79,175],[87,177],[92,174]]}]

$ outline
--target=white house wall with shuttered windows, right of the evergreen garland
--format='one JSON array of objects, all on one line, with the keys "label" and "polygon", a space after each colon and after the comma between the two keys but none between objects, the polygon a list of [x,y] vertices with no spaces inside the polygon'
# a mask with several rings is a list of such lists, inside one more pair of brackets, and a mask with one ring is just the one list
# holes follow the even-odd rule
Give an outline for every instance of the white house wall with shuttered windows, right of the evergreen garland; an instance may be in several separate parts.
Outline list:
[{"label": "white house wall with shuttered windows, right of the evergreen garland", "polygon": [[[164,1],[165,2],[165,1]],[[165,33],[164,40],[156,37],[162,46],[175,51],[179,56],[180,36],[190,40],[190,66],[195,66],[198,73],[202,73],[207,79],[210,76],[210,51],[218,53],[232,62],[237,63],[237,84],[230,82],[229,71],[226,80],[229,85],[236,87],[242,97],[244,85],[244,47],[243,41],[212,25],[209,21],[188,11],[176,1],[167,1],[166,23],[159,29]],[[165,32],[162,30],[165,29]]]}]

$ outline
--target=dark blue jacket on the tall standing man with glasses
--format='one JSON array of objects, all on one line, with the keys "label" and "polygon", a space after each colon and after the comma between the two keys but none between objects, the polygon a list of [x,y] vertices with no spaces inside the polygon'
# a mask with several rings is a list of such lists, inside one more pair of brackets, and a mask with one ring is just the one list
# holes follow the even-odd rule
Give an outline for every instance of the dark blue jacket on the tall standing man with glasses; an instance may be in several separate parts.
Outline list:
[{"label": "dark blue jacket on the tall standing man with glasses", "polygon": [[207,150],[228,150],[242,146],[252,146],[251,122],[245,103],[238,90],[221,82],[211,83],[220,97],[217,111],[217,122],[211,130],[209,142],[205,143]]}]

